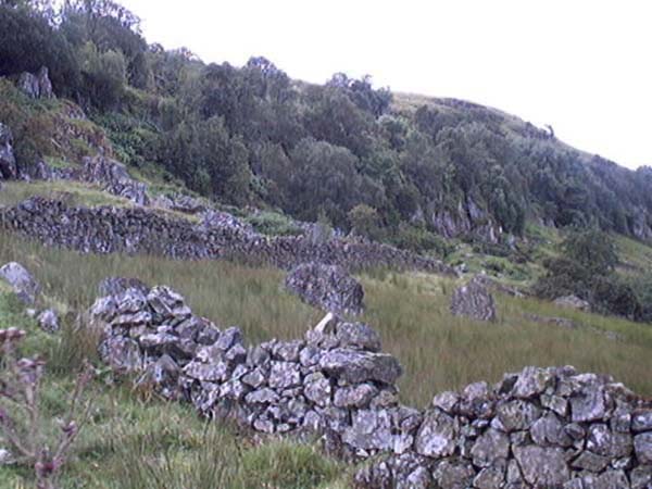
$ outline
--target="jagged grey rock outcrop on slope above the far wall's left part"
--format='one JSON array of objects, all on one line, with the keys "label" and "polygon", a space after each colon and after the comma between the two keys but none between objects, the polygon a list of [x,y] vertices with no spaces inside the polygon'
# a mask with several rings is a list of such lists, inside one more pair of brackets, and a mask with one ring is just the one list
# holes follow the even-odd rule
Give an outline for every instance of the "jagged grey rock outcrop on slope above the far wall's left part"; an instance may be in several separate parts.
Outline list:
[{"label": "jagged grey rock outcrop on slope above the far wall's left part", "polygon": [[147,185],[129,176],[124,164],[102,154],[84,159],[80,179],[98,184],[114,196],[124,197],[138,205],[149,205]]}]

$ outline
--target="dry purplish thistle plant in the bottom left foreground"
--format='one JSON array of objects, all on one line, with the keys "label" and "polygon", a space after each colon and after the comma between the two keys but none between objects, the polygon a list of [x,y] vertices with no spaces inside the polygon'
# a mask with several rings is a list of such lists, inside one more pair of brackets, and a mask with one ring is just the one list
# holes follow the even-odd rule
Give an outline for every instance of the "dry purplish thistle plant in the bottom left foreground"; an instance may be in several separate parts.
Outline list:
[{"label": "dry purplish thistle plant in the bottom left foreground", "polygon": [[58,435],[48,437],[40,410],[41,380],[46,362],[38,358],[17,359],[17,346],[26,333],[0,329],[0,439],[9,444],[16,463],[34,468],[37,489],[57,489],[57,478],[82,427],[90,416],[91,401],[84,392],[92,378],[85,364],[70,396],[63,418],[57,419]]}]

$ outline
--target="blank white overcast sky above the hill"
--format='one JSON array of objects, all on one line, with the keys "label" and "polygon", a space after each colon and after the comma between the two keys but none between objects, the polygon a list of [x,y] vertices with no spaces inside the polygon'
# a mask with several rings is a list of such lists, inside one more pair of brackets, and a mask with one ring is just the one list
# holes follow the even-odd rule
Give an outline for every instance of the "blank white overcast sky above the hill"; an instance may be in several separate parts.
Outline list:
[{"label": "blank white overcast sky above the hill", "polygon": [[123,0],[149,42],[293,78],[371,74],[496,106],[591,153],[652,165],[648,0]]}]

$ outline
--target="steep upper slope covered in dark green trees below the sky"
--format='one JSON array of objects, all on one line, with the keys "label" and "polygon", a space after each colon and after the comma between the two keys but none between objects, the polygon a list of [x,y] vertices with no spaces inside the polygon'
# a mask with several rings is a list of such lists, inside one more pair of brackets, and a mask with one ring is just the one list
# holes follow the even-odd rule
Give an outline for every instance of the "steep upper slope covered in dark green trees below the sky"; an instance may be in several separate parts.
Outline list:
[{"label": "steep upper slope covered in dark green trees below the sky", "polygon": [[[421,251],[436,250],[437,236],[503,242],[528,221],[652,238],[649,168],[619,167],[498,110],[344,74],[294,82],[264,58],[205,64],[148,46],[138,18],[111,2],[68,2],[55,18],[29,2],[2,9],[12,42],[1,45],[0,76],[49,67],[54,93],[82,104],[118,160],[220,202],[322,217]],[[43,37],[54,41],[23,54]],[[25,172],[105,146],[82,137],[61,150],[52,122],[4,99],[0,120]]]}]

